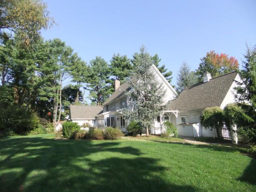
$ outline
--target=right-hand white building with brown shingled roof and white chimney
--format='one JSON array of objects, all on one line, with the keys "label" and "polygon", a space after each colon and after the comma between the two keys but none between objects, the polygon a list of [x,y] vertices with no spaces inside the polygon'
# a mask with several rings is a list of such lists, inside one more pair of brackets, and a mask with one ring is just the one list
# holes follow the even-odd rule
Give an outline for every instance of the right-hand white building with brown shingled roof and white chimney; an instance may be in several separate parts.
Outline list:
[{"label": "right-hand white building with brown shingled roof and white chimney", "polygon": [[205,108],[219,106],[224,108],[235,102],[236,81],[240,81],[237,72],[230,72],[215,78],[206,72],[204,82],[186,87],[175,100],[170,100],[167,110],[178,110],[176,121],[180,136],[216,137],[216,130],[205,129],[200,126],[200,116]]}]

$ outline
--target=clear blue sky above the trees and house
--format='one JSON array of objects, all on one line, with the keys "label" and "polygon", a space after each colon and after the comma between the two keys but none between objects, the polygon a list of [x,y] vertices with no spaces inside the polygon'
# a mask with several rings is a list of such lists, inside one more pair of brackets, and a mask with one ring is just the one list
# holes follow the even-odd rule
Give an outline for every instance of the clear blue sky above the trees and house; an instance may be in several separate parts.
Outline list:
[{"label": "clear blue sky above the trees and house", "polygon": [[183,61],[198,68],[215,50],[241,64],[245,42],[256,44],[255,0],[44,0],[58,26],[43,31],[60,38],[87,63],[95,56],[110,61],[114,53],[132,58],[144,44],[173,72]]}]

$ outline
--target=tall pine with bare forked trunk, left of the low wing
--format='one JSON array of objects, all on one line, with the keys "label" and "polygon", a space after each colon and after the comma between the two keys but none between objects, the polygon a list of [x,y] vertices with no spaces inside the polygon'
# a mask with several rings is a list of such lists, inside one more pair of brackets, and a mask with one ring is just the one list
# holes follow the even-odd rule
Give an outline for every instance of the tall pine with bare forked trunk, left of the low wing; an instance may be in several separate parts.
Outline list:
[{"label": "tall pine with bare forked trunk, left of the low wing", "polygon": [[[72,48],[60,39],[48,40],[42,45],[39,65],[40,100],[51,101],[54,127],[60,121],[62,111],[62,82],[68,78],[73,64]],[[57,120],[58,115],[58,120]]]}]

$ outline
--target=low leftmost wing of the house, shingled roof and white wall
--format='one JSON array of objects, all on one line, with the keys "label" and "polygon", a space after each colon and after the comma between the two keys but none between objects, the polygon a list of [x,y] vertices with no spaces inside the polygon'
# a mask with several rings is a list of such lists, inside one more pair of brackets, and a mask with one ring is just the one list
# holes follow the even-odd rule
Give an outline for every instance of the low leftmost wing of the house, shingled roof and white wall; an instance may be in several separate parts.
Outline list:
[{"label": "low leftmost wing of the house, shingled roof and white wall", "polygon": [[77,122],[80,126],[84,123],[97,126],[95,117],[102,112],[102,109],[102,106],[70,105],[68,120]]}]

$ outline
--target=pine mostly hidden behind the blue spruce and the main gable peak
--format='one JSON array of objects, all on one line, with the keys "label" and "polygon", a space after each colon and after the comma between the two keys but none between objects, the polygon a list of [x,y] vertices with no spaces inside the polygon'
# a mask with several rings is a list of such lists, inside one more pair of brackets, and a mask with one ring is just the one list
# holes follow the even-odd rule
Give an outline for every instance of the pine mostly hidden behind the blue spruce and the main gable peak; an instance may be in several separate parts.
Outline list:
[{"label": "pine mostly hidden behind the blue spruce and the main gable peak", "polygon": [[[134,65],[134,67],[136,67],[136,64],[138,63],[140,54],[136,52],[133,55],[132,64]],[[165,65],[162,65],[161,67],[159,66],[161,59],[158,57],[158,54],[155,54],[154,56],[150,56],[150,58],[152,60],[152,63],[158,68],[158,70],[162,73],[162,75],[166,78],[166,80],[169,83],[171,83],[172,82],[172,72],[167,71],[167,68],[165,68]]]}]

